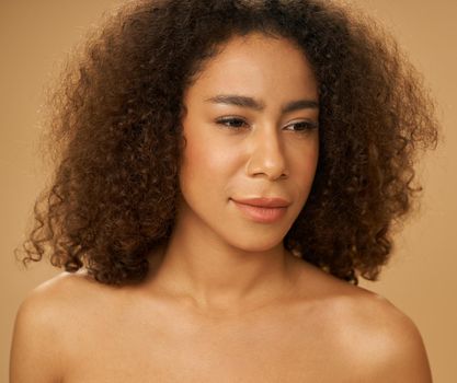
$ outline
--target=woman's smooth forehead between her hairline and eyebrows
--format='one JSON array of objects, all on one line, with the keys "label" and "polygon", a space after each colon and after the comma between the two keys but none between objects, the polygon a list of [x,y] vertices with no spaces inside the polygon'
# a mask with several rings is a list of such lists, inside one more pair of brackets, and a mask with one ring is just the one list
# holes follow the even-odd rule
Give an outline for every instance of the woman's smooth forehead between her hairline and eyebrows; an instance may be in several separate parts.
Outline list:
[{"label": "woman's smooth forehead between her hairline and eyebrows", "polygon": [[[192,90],[193,88],[193,90]],[[300,93],[317,96],[312,68],[293,42],[261,34],[236,36],[203,65],[188,93]]]}]

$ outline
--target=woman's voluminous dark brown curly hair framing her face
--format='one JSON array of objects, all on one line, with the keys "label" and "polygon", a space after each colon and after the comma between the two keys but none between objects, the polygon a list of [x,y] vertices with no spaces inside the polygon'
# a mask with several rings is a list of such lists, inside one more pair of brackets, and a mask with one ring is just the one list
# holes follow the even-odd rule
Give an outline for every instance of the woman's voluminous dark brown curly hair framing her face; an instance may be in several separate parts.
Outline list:
[{"label": "woman's voluminous dark brown curly hair framing her face", "polygon": [[252,32],[293,42],[319,86],[318,167],[285,248],[354,285],[378,279],[393,223],[422,190],[414,164],[436,148],[438,123],[391,35],[323,0],[146,0],[106,18],[52,88],[43,142],[56,166],[35,201],[24,265],[48,245],[54,266],[85,267],[102,283],[146,277],[175,222],[183,93],[224,43]]}]

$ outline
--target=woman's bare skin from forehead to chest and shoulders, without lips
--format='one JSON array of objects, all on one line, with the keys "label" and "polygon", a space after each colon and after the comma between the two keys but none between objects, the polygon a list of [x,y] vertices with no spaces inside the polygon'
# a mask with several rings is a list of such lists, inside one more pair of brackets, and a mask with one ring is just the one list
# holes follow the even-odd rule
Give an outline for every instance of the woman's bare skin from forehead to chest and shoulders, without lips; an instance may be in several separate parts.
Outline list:
[{"label": "woman's bare skin from forehead to chest and shoulders, without lips", "polygon": [[[185,92],[176,227],[147,279],[114,288],[62,272],[33,290],[11,382],[432,382],[407,315],[282,244],[319,158],[317,89],[290,42],[230,39]],[[232,201],[260,196],[290,206],[259,223]]]}]

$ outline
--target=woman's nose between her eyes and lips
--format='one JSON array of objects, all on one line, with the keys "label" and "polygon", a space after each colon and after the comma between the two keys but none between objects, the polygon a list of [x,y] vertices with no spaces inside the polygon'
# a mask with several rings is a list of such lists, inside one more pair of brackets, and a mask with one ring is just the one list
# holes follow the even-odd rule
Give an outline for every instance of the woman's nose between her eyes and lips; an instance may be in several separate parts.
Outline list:
[{"label": "woman's nose between her eyes and lips", "polygon": [[270,181],[288,176],[287,161],[279,136],[281,132],[275,127],[258,129],[251,136],[248,175],[261,174]]}]

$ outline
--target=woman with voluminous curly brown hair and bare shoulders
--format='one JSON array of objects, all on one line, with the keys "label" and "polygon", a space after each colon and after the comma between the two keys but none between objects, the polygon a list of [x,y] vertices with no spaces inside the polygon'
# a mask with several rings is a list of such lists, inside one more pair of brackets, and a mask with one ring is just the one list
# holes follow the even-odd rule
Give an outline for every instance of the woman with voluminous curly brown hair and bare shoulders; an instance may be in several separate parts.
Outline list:
[{"label": "woman with voluminous curly brown hair and bare shoulders", "polygon": [[[395,42],[323,1],[148,0],[50,100],[56,174],[12,382],[431,382],[376,280],[433,104]],[[43,204],[45,205],[43,207]]]}]

